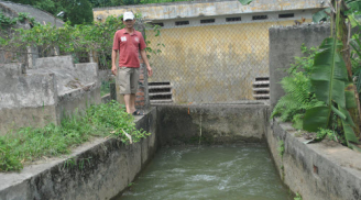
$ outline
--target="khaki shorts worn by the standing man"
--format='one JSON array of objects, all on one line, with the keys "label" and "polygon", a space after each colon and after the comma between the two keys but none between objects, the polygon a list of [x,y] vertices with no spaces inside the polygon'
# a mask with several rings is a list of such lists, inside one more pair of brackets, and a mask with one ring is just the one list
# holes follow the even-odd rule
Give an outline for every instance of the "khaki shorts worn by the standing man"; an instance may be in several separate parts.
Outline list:
[{"label": "khaki shorts worn by the standing man", "polygon": [[118,68],[118,82],[120,93],[136,93],[139,85],[139,68],[133,67],[119,67]]}]

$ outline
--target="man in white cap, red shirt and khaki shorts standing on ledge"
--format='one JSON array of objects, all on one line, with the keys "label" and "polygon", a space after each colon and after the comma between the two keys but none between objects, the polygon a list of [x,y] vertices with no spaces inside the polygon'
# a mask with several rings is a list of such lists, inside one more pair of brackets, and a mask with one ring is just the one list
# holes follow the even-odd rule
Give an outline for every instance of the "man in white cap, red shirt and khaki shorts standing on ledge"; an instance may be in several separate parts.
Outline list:
[{"label": "man in white cap, red shirt and khaki shorts standing on ledge", "polygon": [[[139,85],[139,51],[141,57],[146,65],[147,75],[152,76],[153,71],[147,62],[145,53],[145,42],[141,32],[134,30],[134,14],[132,12],[124,12],[123,14],[124,29],[116,32],[113,47],[111,53],[111,73],[117,76],[119,80],[120,93],[124,96],[127,112],[133,115],[142,114],[135,110],[135,93]],[[119,67],[116,60],[119,55]]]}]

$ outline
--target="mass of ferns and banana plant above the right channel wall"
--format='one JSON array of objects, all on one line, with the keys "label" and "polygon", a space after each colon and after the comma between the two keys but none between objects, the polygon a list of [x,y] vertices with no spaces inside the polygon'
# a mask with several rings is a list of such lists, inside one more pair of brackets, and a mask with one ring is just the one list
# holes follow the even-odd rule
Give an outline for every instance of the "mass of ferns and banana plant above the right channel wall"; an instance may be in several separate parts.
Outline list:
[{"label": "mass of ferns and banana plant above the right channel wall", "polygon": [[[361,42],[359,34],[352,36],[350,54],[346,23],[359,25],[354,14],[360,12],[361,0],[332,0],[331,5],[328,14],[331,36],[318,49],[311,48],[308,56],[296,58],[296,64],[281,82],[286,96],[278,101],[272,118],[280,115],[283,121],[292,121],[296,129],[317,132],[314,142],[328,136],[360,149],[357,144],[360,136]],[[325,20],[325,15],[319,14],[321,12],[314,15],[314,20]]]}]

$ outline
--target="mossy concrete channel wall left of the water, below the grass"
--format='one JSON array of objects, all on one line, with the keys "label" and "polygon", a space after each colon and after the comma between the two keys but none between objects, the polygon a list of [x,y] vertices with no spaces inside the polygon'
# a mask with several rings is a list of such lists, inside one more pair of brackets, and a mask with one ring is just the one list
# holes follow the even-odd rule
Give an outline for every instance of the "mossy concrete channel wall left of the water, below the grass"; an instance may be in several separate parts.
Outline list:
[{"label": "mossy concrete channel wall left of the water, below the grass", "polygon": [[0,174],[0,200],[110,199],[134,179],[156,151],[155,109],[136,119],[152,133],[133,145],[97,138],[66,158],[37,162],[21,173]]}]

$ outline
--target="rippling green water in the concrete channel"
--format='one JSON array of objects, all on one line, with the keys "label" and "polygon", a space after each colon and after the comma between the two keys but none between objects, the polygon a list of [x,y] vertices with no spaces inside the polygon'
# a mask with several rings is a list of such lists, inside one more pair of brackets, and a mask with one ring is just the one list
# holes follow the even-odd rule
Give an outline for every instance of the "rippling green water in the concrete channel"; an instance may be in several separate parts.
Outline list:
[{"label": "rippling green water in the concrete channel", "polygon": [[266,146],[169,147],[118,200],[293,200]]}]

